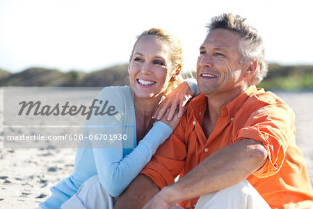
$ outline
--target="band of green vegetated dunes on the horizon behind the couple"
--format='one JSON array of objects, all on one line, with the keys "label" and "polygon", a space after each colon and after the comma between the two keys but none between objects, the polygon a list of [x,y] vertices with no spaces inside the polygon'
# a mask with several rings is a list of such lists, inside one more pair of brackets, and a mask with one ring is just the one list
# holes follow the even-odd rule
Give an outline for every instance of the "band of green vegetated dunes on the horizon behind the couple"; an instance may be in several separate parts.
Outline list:
[{"label": "band of green vegetated dunes on the horizon behind the couple", "polygon": [[[268,65],[267,77],[258,85],[266,90],[313,90],[313,65]],[[192,73],[193,77],[195,73]],[[190,77],[184,73],[183,77]],[[60,72],[53,69],[29,68],[10,73],[0,69],[0,86],[123,86],[129,83],[127,64],[95,72]]]}]

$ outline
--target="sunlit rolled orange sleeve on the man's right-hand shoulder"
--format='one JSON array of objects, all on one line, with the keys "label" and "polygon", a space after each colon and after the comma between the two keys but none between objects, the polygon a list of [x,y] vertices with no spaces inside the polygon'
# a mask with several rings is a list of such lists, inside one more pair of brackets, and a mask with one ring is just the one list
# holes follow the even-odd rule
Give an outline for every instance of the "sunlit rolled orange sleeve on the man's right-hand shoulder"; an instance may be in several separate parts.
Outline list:
[{"label": "sunlit rolled orange sleeve on the man's right-hand shoulder", "polygon": [[272,176],[280,170],[286,150],[294,142],[294,112],[287,104],[268,104],[253,112],[245,127],[237,132],[234,142],[254,139],[262,142],[268,152],[266,163],[253,173],[258,178]]}]

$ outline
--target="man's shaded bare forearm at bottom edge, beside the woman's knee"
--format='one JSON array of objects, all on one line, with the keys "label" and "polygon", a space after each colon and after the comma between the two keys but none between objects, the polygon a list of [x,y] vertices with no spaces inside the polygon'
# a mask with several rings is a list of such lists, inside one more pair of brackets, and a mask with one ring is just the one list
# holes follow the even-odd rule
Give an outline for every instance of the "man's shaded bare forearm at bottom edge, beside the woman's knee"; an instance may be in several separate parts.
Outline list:
[{"label": "man's shaded bare forearm at bottom edge, beside the woman's knee", "polygon": [[150,177],[139,174],[118,197],[114,209],[143,208],[159,191],[159,187]]}]

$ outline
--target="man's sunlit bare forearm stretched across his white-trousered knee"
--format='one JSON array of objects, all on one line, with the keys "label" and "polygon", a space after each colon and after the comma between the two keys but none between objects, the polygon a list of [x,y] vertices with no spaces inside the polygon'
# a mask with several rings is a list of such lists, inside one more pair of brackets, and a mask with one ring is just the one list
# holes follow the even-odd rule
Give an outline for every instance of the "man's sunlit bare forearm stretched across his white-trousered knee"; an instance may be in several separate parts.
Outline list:
[{"label": "man's sunlit bare forearm stretched across his white-trousered knee", "polygon": [[243,139],[207,157],[195,169],[161,189],[145,208],[162,204],[170,208],[180,201],[215,192],[240,183],[266,162],[267,151],[261,142]]}]

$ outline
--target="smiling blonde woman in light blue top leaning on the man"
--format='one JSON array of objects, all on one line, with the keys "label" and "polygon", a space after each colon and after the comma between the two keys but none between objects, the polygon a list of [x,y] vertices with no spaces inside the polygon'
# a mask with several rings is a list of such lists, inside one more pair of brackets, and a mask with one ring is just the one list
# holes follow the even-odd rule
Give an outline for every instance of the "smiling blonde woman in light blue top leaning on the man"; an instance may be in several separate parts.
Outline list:
[{"label": "smiling blonde woman in light blue top leaning on the man", "polygon": [[[181,68],[182,47],[171,33],[150,29],[138,36],[129,60],[131,87],[108,87],[98,95],[99,101],[109,100],[113,114],[86,122],[83,134],[93,140],[77,149],[73,173],[51,187],[52,196],[40,208],[112,208],[113,197],[127,188],[179,122],[175,117],[154,123],[152,116]],[[182,100],[190,91],[183,91]]]}]

